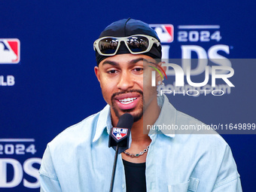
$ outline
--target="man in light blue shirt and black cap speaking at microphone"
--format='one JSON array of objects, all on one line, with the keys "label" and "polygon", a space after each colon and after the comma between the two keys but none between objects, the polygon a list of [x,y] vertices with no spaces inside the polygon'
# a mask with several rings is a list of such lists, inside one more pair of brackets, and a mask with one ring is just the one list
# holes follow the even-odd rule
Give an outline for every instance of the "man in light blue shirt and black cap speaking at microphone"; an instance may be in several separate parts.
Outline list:
[{"label": "man in light blue shirt and black cap speaking at microphone", "polygon": [[[146,129],[201,123],[176,111],[151,87],[152,66],[165,69],[156,63],[160,39],[148,24],[133,19],[111,23],[93,45],[96,77],[108,105],[47,145],[41,191],[108,191],[114,160],[108,134],[124,113],[134,118],[132,142],[118,156],[114,191],[242,191],[230,148],[218,134]],[[160,75],[156,78],[161,84]]]}]

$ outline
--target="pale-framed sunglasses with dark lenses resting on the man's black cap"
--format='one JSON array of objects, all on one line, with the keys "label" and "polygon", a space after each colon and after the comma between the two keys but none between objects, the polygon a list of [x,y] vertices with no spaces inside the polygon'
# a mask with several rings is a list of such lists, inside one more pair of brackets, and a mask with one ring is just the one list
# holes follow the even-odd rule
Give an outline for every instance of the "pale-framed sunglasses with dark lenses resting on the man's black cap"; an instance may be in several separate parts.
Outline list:
[{"label": "pale-framed sunglasses with dark lenses resting on the man's black cap", "polygon": [[160,46],[160,42],[149,35],[131,35],[129,37],[103,37],[98,38],[93,43],[93,49],[102,56],[114,56],[120,47],[121,41],[126,44],[127,49],[132,54],[147,53],[153,44]]}]

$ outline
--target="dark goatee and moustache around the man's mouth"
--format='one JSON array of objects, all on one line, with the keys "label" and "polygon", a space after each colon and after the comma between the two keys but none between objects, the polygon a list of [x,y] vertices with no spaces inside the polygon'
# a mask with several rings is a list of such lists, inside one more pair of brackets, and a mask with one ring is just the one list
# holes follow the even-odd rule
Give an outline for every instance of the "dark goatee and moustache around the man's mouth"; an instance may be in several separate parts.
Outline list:
[{"label": "dark goatee and moustache around the man's mouth", "polygon": [[[133,92],[136,92],[136,93],[139,93],[141,96],[142,96],[142,103],[139,104],[139,112],[136,113],[136,114],[133,114],[133,111],[134,109],[131,108],[131,109],[128,109],[128,110],[121,110],[119,108],[117,108],[117,105],[114,105],[114,96],[118,96],[120,94],[123,94],[123,93],[133,93]],[[112,104],[112,108],[113,108],[113,111],[114,111],[114,114],[117,116],[117,118],[119,119],[120,116],[123,114],[123,113],[129,113],[129,114],[132,114],[133,115],[133,122],[136,122],[138,120],[140,120],[143,116],[143,104],[144,104],[144,98],[143,98],[143,92],[142,90],[128,90],[128,91],[122,91],[122,92],[118,92],[118,93],[114,93],[112,96],[111,96],[111,104]],[[121,113],[123,112],[123,113]]]}]

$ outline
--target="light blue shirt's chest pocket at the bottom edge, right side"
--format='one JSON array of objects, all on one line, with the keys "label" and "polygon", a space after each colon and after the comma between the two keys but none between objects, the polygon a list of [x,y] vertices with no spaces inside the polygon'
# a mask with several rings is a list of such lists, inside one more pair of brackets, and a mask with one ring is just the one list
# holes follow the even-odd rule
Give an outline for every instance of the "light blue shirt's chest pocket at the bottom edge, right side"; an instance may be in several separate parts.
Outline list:
[{"label": "light blue shirt's chest pocket at the bottom edge, right side", "polygon": [[197,187],[199,184],[198,178],[189,178],[187,182],[179,184],[170,184],[168,185],[168,192],[197,192]]}]

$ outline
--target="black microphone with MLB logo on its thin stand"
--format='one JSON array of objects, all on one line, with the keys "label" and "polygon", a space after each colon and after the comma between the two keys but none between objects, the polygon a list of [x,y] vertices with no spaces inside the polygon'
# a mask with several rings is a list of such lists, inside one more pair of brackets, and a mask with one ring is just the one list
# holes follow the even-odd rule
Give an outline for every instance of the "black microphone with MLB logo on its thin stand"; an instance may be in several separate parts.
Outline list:
[{"label": "black microphone with MLB logo on its thin stand", "polygon": [[130,130],[133,126],[133,116],[131,114],[123,114],[120,116],[117,127],[112,127],[109,133],[108,148],[114,148],[114,164],[112,169],[111,184],[109,191],[113,191],[114,175],[117,167],[117,154],[126,151],[129,148]]}]

